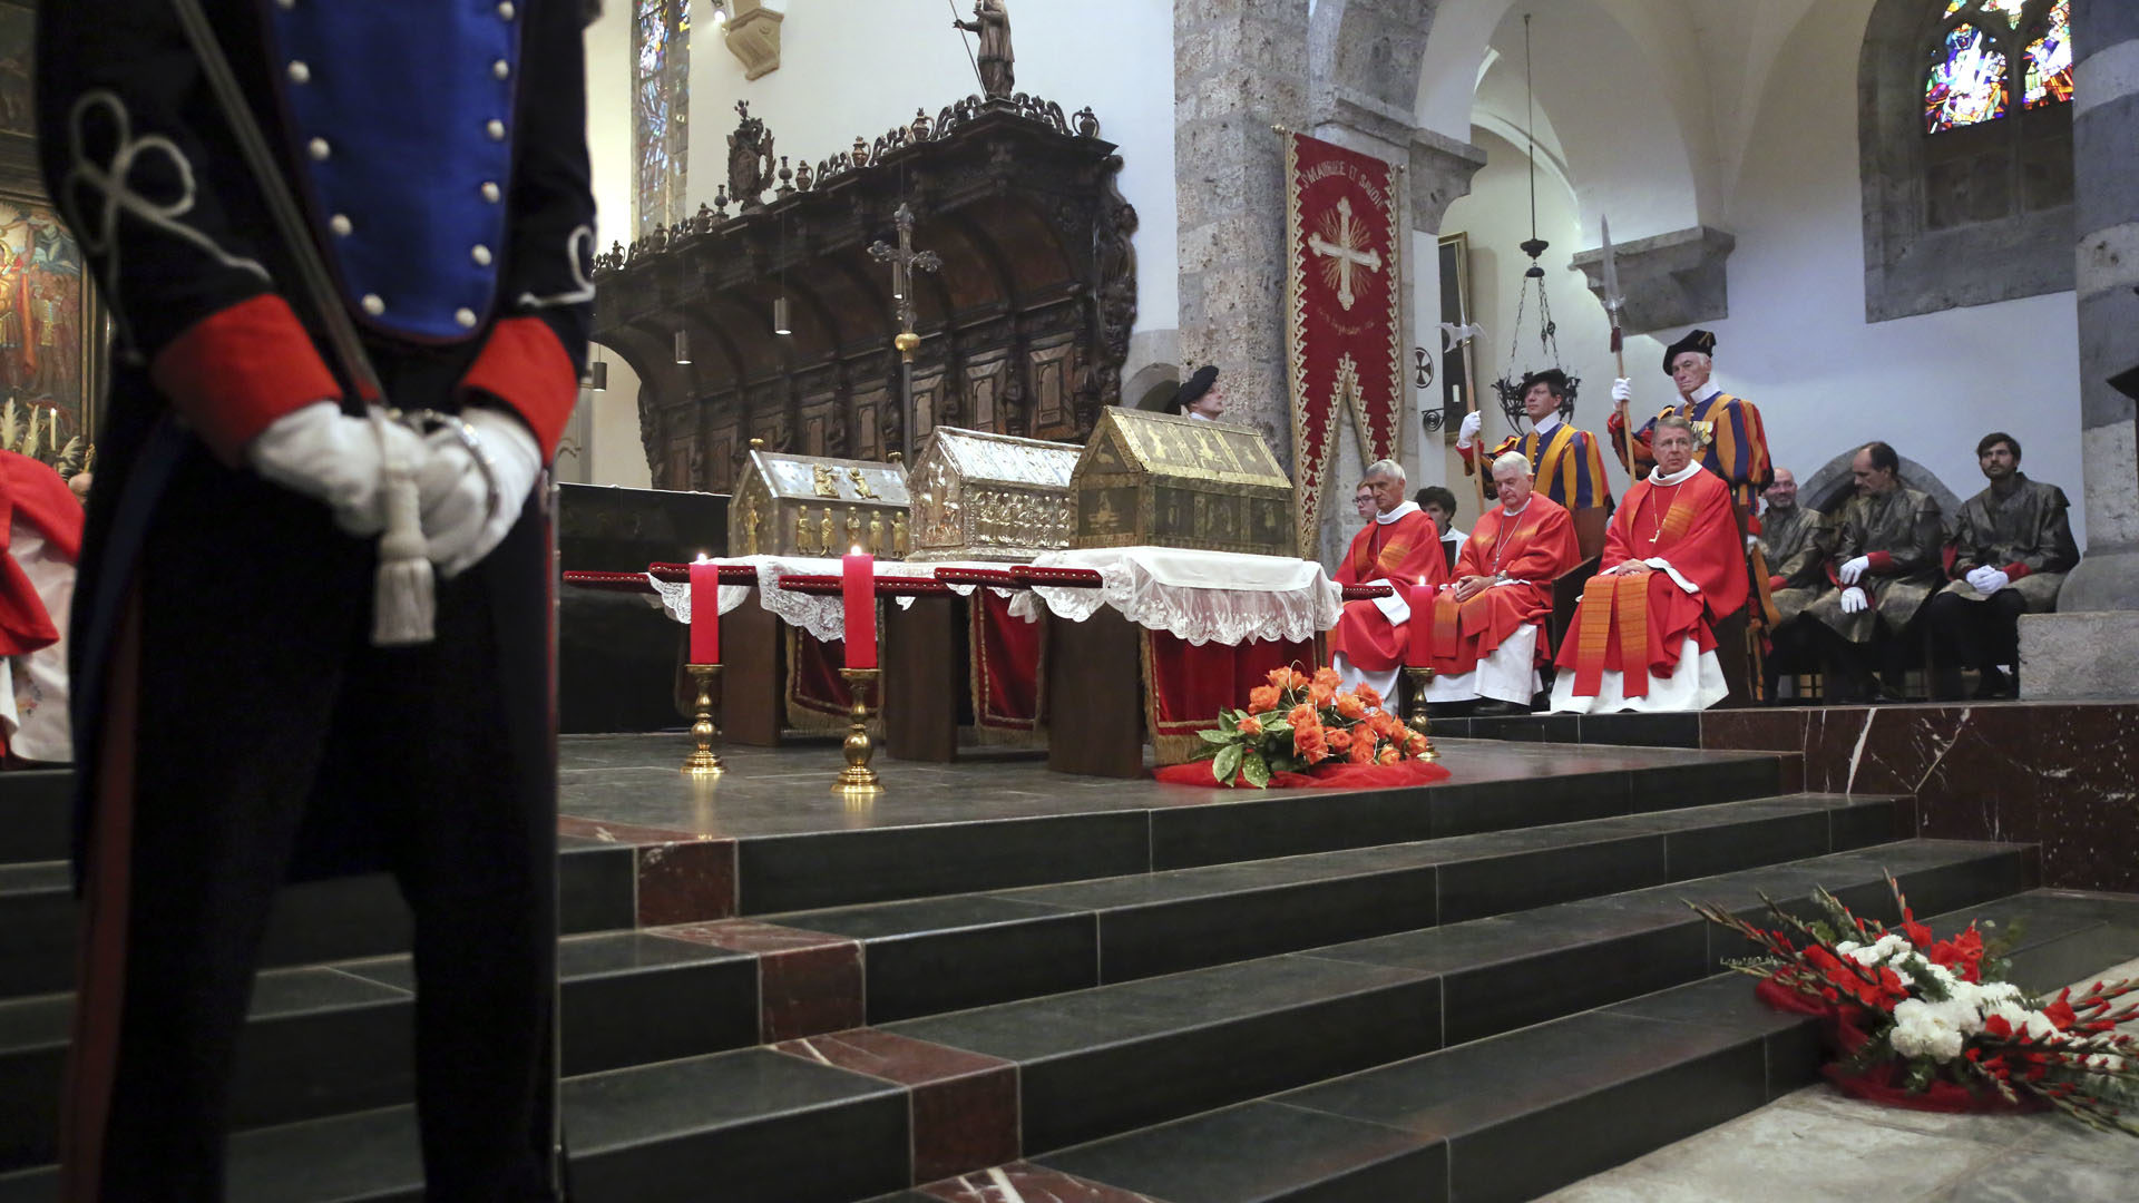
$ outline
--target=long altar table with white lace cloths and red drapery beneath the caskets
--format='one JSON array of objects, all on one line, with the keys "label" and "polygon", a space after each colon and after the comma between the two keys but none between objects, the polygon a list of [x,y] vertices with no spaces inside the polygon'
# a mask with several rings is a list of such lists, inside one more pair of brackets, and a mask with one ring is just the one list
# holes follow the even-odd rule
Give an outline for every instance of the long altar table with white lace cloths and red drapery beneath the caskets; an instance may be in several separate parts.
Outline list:
[{"label": "long altar table with white lace cloths and red drapery beneath the caskets", "polygon": [[[838,561],[747,557],[717,565],[719,726],[774,747],[849,728]],[[693,619],[689,565],[567,574],[648,593]],[[960,745],[1046,747],[1063,773],[1138,777],[1191,760],[1198,730],[1243,704],[1271,668],[1324,661],[1341,591],[1288,557],[1181,548],[1048,552],[1029,565],[873,565],[877,728],[903,760]],[[699,593],[699,599],[714,593]]]}]

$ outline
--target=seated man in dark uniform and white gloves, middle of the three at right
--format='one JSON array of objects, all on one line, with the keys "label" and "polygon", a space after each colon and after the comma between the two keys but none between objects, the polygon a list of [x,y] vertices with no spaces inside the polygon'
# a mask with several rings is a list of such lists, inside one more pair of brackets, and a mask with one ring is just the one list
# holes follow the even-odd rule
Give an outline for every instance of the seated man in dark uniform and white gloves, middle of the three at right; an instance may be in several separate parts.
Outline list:
[{"label": "seated man in dark uniform and white gloves, middle of the three at right", "polygon": [[1833,582],[1805,619],[1825,627],[1827,700],[1872,702],[1874,668],[1897,659],[1917,612],[1944,582],[1938,499],[1902,482],[1902,458],[1865,443],[1850,460],[1857,497],[1835,516]]}]

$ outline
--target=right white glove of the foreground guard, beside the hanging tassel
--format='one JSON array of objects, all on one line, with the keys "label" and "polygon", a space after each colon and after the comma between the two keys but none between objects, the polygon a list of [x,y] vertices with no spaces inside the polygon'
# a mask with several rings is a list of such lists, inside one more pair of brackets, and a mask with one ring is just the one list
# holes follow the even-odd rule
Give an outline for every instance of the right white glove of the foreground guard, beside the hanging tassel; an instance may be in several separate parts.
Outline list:
[{"label": "right white glove of the foreground guard, beside the hanging tassel", "polygon": [[415,473],[424,542],[430,563],[447,578],[475,567],[505,542],[541,473],[541,447],[518,417],[471,405],[460,420],[475,430],[477,447],[490,460],[490,475],[498,482],[498,512],[490,512],[490,477],[460,441],[460,432],[447,428],[426,435],[426,460]]}]

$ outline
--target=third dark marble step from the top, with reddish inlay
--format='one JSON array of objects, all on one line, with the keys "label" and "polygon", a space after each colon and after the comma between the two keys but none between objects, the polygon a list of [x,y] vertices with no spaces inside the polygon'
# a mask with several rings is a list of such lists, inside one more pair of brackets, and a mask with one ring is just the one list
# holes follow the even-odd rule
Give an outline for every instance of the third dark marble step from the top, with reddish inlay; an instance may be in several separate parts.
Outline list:
[{"label": "third dark marble step from the top, with reddish inlay", "polygon": [[[1902,841],[584,1075],[565,1092],[573,1179],[586,1201],[704,1199],[719,1186],[723,1201],[845,1203],[901,1190],[1692,983],[1735,950],[1679,895],[1750,908],[1760,890],[1822,882],[1876,903],[1884,867],[1927,910],[2017,893],[2028,873],[2013,846]],[[381,1109],[244,1132],[231,1199],[413,1199],[411,1124],[406,1109]],[[43,1171],[0,1179],[0,1201],[47,1197]]]}]

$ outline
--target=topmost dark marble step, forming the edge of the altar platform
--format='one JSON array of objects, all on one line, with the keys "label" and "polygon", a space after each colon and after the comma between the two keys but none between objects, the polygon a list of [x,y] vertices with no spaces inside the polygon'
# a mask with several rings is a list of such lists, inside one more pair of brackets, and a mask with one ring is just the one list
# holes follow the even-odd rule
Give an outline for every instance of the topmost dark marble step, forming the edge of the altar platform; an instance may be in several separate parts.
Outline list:
[{"label": "topmost dark marble step, forming the edge of the altar platform", "polygon": [[[1243,796],[1149,786],[1172,805],[992,816],[697,839],[665,828],[567,820],[565,931],[655,927],[734,914],[866,905],[1296,856],[1337,848],[1512,831],[1775,794],[1765,753],[1647,753],[1508,762],[1427,790]],[[663,771],[663,783],[672,773]],[[6,777],[0,777],[4,783]],[[51,794],[51,790],[47,790]],[[0,790],[0,796],[9,796]],[[45,807],[64,822],[64,792]],[[56,801],[53,801],[56,798]],[[73,987],[75,918],[64,863],[0,863],[0,998]],[[409,948],[409,918],[383,873],[284,888],[265,965]]]}]

